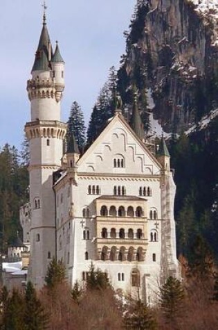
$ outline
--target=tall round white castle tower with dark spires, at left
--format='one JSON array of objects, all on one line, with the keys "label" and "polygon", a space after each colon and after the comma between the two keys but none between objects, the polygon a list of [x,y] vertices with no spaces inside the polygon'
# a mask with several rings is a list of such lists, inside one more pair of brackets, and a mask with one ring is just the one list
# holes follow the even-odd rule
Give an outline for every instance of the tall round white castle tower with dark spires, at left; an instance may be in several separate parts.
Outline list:
[{"label": "tall round white castle tower with dark spires, at left", "polygon": [[55,195],[53,172],[61,165],[66,124],[60,122],[64,90],[64,60],[58,45],[51,46],[44,13],[42,33],[27,82],[31,122],[25,131],[30,141],[30,267],[29,279],[40,288],[55,256]]}]

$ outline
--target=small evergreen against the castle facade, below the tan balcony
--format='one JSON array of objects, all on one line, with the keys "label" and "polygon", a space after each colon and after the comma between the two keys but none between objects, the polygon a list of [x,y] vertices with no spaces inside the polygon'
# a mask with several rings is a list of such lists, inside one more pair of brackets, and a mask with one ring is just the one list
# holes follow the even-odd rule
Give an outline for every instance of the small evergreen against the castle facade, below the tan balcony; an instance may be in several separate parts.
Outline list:
[{"label": "small evergreen against the castle facade, below the tan balcony", "polygon": [[100,269],[95,270],[93,263],[91,263],[87,279],[87,288],[90,290],[105,290],[109,287],[107,274],[103,273]]}]

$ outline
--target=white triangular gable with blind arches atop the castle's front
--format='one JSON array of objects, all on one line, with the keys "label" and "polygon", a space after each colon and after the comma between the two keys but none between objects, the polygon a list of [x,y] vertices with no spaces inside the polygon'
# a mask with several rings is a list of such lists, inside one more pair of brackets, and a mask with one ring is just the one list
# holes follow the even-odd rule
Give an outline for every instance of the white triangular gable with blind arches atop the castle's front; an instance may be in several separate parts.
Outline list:
[{"label": "white triangular gable with blind arches atop the castle's front", "polygon": [[160,174],[161,166],[116,115],[78,161],[78,172]]}]

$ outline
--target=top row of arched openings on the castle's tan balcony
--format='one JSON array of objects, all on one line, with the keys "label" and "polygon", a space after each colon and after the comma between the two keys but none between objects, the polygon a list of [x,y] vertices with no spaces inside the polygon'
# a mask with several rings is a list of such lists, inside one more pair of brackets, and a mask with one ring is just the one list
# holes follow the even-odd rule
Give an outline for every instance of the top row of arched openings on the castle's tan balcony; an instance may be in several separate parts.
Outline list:
[{"label": "top row of arched openings on the castle's tan balcony", "polygon": [[143,208],[140,206],[136,207],[136,210],[132,206],[129,206],[127,210],[124,206],[111,206],[109,209],[107,206],[103,205],[100,208],[100,215],[103,217],[111,216],[111,217],[143,217]]}]

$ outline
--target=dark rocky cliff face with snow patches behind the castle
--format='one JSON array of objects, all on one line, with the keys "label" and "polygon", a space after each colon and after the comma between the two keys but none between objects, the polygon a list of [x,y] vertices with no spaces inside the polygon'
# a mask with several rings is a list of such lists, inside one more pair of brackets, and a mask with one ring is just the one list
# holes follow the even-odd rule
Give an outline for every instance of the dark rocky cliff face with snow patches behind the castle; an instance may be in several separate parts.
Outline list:
[{"label": "dark rocky cliff face with snow patches behind the castle", "polygon": [[127,54],[118,71],[120,94],[128,105],[129,85],[136,83],[143,109],[149,89],[153,116],[165,132],[186,130],[217,107],[218,4],[213,0],[211,10],[204,2],[139,0],[126,33]]}]

